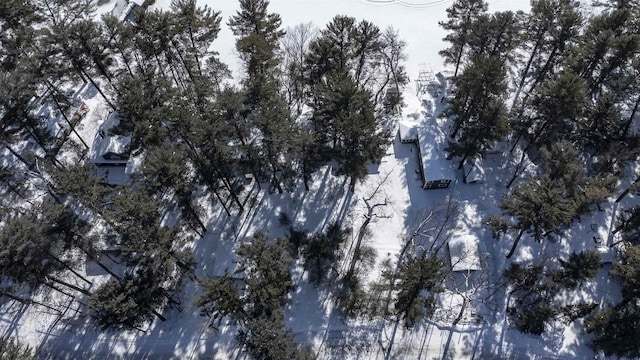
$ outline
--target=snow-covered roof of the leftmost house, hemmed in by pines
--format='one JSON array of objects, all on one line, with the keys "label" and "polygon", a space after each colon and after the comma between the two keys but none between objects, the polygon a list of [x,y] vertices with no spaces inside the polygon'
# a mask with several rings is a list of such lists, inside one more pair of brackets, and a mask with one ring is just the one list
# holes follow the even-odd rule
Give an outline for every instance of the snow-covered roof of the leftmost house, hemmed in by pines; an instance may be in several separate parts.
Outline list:
[{"label": "snow-covered roof of the leftmost house, hemmed in by pines", "polygon": [[114,111],[100,126],[91,156],[94,164],[125,164],[129,159],[131,137],[109,135],[109,130],[119,123],[118,113]]}]

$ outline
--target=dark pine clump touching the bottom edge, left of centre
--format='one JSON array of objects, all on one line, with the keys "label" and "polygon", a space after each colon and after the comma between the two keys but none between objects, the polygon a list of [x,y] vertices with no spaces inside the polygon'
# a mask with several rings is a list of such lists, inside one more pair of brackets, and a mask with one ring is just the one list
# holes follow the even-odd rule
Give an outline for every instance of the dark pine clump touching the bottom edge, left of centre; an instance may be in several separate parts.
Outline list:
[{"label": "dark pine clump touching the bottom edge, left of centre", "polygon": [[[287,240],[269,242],[266,234],[255,233],[251,242],[236,251],[239,256],[234,279],[228,270],[217,279],[204,280],[204,292],[196,300],[201,313],[215,323],[229,318],[240,324],[237,341],[255,359],[307,359],[284,322],[282,306],[293,288]],[[240,296],[242,294],[242,296]]]}]

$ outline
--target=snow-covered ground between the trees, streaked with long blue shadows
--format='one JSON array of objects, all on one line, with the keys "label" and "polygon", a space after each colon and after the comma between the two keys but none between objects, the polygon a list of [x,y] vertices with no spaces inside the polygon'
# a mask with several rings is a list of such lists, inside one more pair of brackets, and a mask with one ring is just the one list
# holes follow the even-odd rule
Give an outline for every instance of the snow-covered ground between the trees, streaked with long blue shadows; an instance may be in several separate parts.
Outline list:
[{"label": "snow-covered ground between the trees, streaked with long blue shadows", "polygon": [[[272,0],[270,11],[279,13],[283,26],[295,26],[312,22],[318,28],[337,14],[367,19],[380,28],[393,26],[407,42],[407,72],[412,80],[420,69],[434,72],[443,70],[438,50],[445,47],[444,31],[438,21],[446,19],[445,9],[452,1],[446,0]],[[102,6],[101,12],[110,11],[114,1]],[[200,1],[214,10],[221,11],[223,23],[238,8],[236,0]],[[490,11],[526,10],[528,0],[489,0]],[[157,8],[167,8],[170,0],[156,1]],[[217,40],[217,51],[234,75],[239,76],[239,61],[234,50],[231,31],[223,27]],[[91,111],[79,128],[80,135],[89,144],[93,142],[106,107],[94,92],[80,90]],[[416,122],[432,119],[429,111],[416,97],[414,84],[405,91],[407,106],[403,117]],[[437,107],[436,107],[437,108]],[[437,111],[437,109],[436,109]],[[281,236],[285,228],[280,226],[278,215],[287,213],[294,226],[316,231],[336,219],[357,229],[367,212],[365,198],[375,195],[387,205],[378,209],[378,217],[371,222],[371,237],[367,245],[378,254],[379,262],[397,255],[404,240],[416,231],[419,222],[430,212],[438,212],[447,204],[456,204],[458,231],[475,234],[481,240],[480,257],[483,270],[478,276],[478,291],[472,294],[471,306],[463,320],[452,325],[461,306],[461,295],[445,292],[440,297],[444,310],[433,321],[416,326],[412,331],[394,323],[368,322],[345,323],[334,312],[332,301],[322,287],[314,288],[304,281],[304,274],[294,273],[296,290],[287,309],[288,324],[293,328],[296,340],[314,346],[319,358],[383,359],[391,339],[390,352],[394,359],[586,359],[594,353],[587,346],[589,337],[584,334],[581,322],[571,326],[558,322],[542,336],[523,335],[508,325],[506,318],[507,291],[498,286],[500,276],[508,265],[505,254],[512,242],[509,236],[494,240],[482,226],[482,220],[498,214],[497,205],[505,191],[505,183],[513,171],[506,155],[489,156],[485,160],[486,179],[483,184],[464,184],[462,174],[449,189],[423,190],[417,177],[417,151],[410,144],[400,144],[396,139],[389,147],[379,168],[367,180],[359,184],[355,193],[343,185],[343,179],[323,168],[315,174],[313,186],[305,192],[300,185],[290,194],[268,194],[255,191],[251,202],[255,204],[241,218],[228,218],[222,209],[212,209],[204,238],[194,243],[193,252],[200,265],[198,276],[219,275],[226,267],[232,267],[231,254],[240,241],[254,232],[268,230],[272,237]],[[456,167],[457,163],[446,166]],[[615,194],[617,195],[617,194]],[[374,200],[375,200],[374,199]],[[635,201],[628,196],[622,203]],[[536,244],[523,239],[514,260],[547,258],[566,255],[569,249],[595,249],[592,238],[596,235],[607,239],[612,224],[612,204],[604,204],[589,218],[583,218],[571,230],[570,237],[551,244]],[[594,226],[595,225],[595,226]],[[347,256],[347,259],[349,256]],[[348,266],[345,264],[345,266]],[[379,272],[371,272],[370,280],[376,280]],[[606,269],[605,269],[606,270]],[[578,296],[600,303],[613,302],[619,294],[616,285],[609,283],[603,270],[591,287]],[[96,279],[99,281],[99,279]],[[242,358],[235,348],[235,328],[219,331],[207,327],[207,319],[199,315],[192,300],[199,289],[188,283],[181,295],[183,311],[168,311],[168,321],[155,321],[146,332],[100,332],[82,317],[76,317],[77,303],[63,297],[43,298],[42,301],[68,304],[63,316],[50,314],[38,306],[2,304],[0,329],[4,336],[39,348],[46,359],[230,359]],[[482,301],[481,301],[482,300]],[[567,299],[569,301],[571,299]]]}]

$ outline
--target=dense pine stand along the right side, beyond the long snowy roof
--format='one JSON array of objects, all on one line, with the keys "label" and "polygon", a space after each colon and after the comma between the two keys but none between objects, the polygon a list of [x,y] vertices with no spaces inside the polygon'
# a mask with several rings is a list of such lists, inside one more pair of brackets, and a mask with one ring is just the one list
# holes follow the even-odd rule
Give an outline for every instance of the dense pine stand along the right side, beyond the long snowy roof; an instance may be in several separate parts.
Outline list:
[{"label": "dense pine stand along the right side, beyond the long snowy roof", "polygon": [[[525,234],[536,241],[561,238],[607,201],[625,167],[637,160],[640,4],[591,5],[587,12],[578,1],[532,0],[529,13],[488,13],[485,1],[458,0],[441,23],[451,45],[441,55],[455,67],[449,155],[462,166],[498,141],[510,147],[507,188],[517,185],[501,201],[502,216],[487,219],[496,238],[516,234],[507,257]],[[636,190],[623,194],[629,191]],[[630,290],[639,269],[637,214],[637,208],[625,209],[616,230],[625,250],[612,274],[623,282],[624,300],[598,311],[587,326],[607,355],[640,354],[633,340],[640,331],[633,320],[637,296]],[[523,331],[541,333],[547,319],[563,313],[550,300],[559,286],[557,270],[545,269],[514,264],[506,273],[520,293],[511,315]]]}]

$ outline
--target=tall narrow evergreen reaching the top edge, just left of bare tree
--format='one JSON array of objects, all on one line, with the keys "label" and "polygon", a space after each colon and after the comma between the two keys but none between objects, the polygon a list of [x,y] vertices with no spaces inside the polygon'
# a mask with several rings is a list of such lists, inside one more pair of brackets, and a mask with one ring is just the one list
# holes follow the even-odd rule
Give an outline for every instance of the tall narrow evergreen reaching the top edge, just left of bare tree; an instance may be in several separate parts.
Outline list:
[{"label": "tall narrow evergreen reaching the top edge, just left of bare tree", "polygon": [[256,143],[256,153],[246,155],[254,162],[254,173],[264,174],[282,193],[282,184],[291,187],[294,177],[287,154],[294,152],[291,135],[296,129],[276,74],[284,31],[280,29],[280,16],[267,12],[268,5],[266,0],[241,0],[240,11],[229,26],[238,36],[236,48],[247,72],[242,116],[260,130],[260,136],[251,139]]}]

